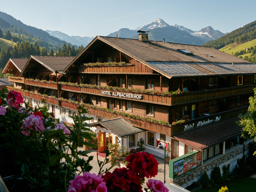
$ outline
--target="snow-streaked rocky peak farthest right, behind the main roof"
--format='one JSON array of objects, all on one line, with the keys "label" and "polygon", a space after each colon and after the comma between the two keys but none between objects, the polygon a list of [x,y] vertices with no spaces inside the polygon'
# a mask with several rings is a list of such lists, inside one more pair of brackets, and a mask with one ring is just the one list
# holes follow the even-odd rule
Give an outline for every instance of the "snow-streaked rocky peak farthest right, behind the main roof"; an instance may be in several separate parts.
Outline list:
[{"label": "snow-streaked rocky peak farthest right, behind the main roof", "polygon": [[173,27],[176,27],[182,31],[185,31],[189,33],[190,35],[197,36],[203,39],[206,39],[208,41],[218,39],[224,35],[225,33],[220,32],[219,30],[214,30],[211,26],[208,26],[206,28],[202,28],[200,31],[193,31],[191,29],[185,28],[181,25],[172,25]]}]

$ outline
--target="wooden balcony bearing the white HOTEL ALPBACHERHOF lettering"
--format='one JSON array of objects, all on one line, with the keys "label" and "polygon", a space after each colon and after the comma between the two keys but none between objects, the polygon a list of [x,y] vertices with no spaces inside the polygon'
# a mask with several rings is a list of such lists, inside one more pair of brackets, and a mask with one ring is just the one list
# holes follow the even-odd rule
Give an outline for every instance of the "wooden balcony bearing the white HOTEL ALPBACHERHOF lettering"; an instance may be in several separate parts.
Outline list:
[{"label": "wooden balcony bearing the white HOTEL ALPBACHERHOF lettering", "polygon": [[[100,87],[84,87],[80,85],[76,85],[76,86],[63,85],[63,84],[60,85],[61,90],[65,90],[65,91],[93,94],[93,95],[111,97],[116,99],[129,99],[129,100],[142,101],[147,103],[150,102],[154,104],[161,104],[161,105],[167,105],[167,106],[175,106],[175,105],[203,101],[203,100],[218,99],[218,98],[228,97],[236,94],[238,95],[238,94],[253,93],[253,89],[255,87],[256,85],[245,85],[245,86],[227,87],[227,88],[221,88],[221,89],[212,89],[212,90],[164,95],[161,93],[158,93],[158,94],[144,93],[144,92],[134,92],[134,91],[126,91],[126,90],[104,89]],[[106,92],[106,94],[104,91]],[[125,97],[120,96],[122,94],[123,95],[125,94]],[[135,95],[139,95],[139,97],[134,99],[131,97],[126,97],[126,94],[135,94]]]}]

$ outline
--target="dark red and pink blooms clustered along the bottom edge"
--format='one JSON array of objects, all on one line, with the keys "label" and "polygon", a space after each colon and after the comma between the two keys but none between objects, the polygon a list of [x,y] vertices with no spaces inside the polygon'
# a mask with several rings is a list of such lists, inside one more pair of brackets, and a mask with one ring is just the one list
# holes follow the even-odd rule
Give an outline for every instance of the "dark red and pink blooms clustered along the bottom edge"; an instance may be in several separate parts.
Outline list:
[{"label": "dark red and pink blooms clustered along the bottom edge", "polygon": [[[133,153],[127,156],[126,160],[130,162],[126,168],[116,168],[112,173],[106,172],[103,176],[93,176],[93,179],[98,181],[100,189],[95,187],[95,182],[92,181],[91,176],[87,179],[83,176],[75,176],[75,180],[69,181],[71,185],[69,185],[68,192],[142,192],[141,184],[144,183],[145,176],[147,178],[156,176],[158,163],[152,154],[148,155],[144,151]],[[88,174],[90,175],[88,172],[83,173],[83,175]],[[98,177],[98,179],[95,177]],[[154,192],[169,191],[164,183],[159,180],[148,180],[147,186]]]}]

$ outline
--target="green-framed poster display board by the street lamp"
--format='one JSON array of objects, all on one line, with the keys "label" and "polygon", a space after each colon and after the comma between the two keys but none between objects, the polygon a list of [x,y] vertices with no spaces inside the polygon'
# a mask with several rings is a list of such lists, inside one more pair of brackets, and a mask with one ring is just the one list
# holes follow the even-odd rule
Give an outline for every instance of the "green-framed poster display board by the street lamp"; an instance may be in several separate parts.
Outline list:
[{"label": "green-framed poster display board by the street lamp", "polygon": [[169,177],[173,179],[200,165],[202,165],[202,152],[191,151],[169,161]]}]

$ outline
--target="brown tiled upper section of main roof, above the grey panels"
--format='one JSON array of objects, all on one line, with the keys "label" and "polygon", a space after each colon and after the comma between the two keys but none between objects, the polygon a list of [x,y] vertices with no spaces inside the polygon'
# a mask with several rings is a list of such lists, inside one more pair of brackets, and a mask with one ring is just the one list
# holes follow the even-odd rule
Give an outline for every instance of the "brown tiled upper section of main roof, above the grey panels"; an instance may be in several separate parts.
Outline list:
[{"label": "brown tiled upper section of main roof, above the grey panels", "polygon": [[[142,42],[138,39],[115,38],[100,36],[100,38],[114,44],[126,52],[144,61],[169,62],[215,62],[215,63],[250,63],[212,47],[177,44],[169,42]],[[193,56],[177,51],[179,49],[193,53]]]}]

